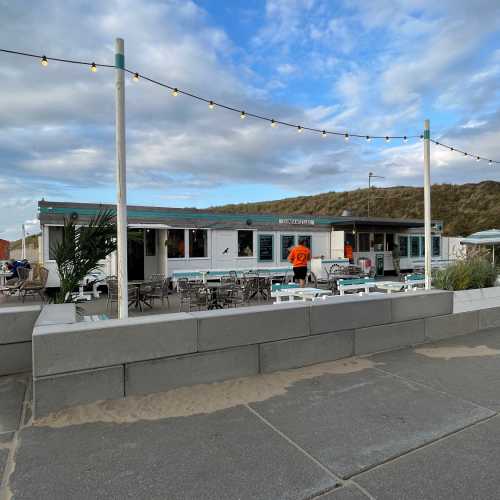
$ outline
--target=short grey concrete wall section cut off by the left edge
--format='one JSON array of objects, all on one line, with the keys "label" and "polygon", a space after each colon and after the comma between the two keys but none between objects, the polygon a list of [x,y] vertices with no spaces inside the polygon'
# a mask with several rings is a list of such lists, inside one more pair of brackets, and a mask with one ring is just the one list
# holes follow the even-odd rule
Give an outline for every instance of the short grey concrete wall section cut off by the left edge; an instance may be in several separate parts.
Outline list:
[{"label": "short grey concrete wall section cut off by the left edge", "polygon": [[0,375],[31,371],[31,336],[40,306],[0,309]]}]

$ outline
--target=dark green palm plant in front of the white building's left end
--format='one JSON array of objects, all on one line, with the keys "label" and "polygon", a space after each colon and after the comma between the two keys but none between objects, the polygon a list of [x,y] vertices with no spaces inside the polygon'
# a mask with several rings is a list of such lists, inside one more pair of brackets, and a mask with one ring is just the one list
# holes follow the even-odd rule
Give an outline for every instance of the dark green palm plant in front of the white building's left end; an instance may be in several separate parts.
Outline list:
[{"label": "dark green palm plant in front of the white building's left end", "polygon": [[100,210],[87,225],[64,220],[62,240],[51,250],[54,253],[61,287],[55,302],[71,300],[71,292],[83,278],[99,267],[99,261],[116,250],[116,225],[110,210]]}]

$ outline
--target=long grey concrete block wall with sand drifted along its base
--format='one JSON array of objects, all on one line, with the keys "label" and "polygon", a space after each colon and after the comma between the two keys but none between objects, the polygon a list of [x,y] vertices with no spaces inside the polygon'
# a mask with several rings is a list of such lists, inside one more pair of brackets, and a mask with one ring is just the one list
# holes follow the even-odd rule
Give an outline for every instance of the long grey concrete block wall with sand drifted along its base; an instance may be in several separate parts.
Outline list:
[{"label": "long grey concrete block wall with sand drifted along its base", "polygon": [[[34,413],[130,394],[297,368],[419,344],[500,322],[456,318],[443,291],[335,297],[96,323],[53,320],[33,332]],[[64,307],[64,306],[63,306]],[[54,311],[54,314],[56,311]],[[57,311],[61,319],[61,310]],[[72,311],[66,315],[71,319]]]}]

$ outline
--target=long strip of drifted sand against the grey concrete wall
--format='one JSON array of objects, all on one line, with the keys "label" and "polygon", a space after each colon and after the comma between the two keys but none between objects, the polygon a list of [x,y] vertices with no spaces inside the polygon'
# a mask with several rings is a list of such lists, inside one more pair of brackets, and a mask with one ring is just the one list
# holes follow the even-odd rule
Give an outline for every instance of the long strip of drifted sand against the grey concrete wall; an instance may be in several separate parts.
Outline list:
[{"label": "long strip of drifted sand against the grey concrete wall", "polygon": [[296,370],[180,387],[168,392],[97,401],[61,410],[36,420],[33,425],[66,427],[90,422],[125,424],[139,420],[212,413],[286,394],[292,384],[301,380],[321,375],[355,373],[374,366],[376,363],[369,359],[349,358]]}]

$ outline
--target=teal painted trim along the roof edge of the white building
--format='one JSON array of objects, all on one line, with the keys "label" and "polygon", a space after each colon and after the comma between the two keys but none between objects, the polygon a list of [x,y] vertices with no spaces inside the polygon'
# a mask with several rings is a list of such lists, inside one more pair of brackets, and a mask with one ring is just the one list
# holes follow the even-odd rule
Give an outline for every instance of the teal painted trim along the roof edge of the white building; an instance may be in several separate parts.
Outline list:
[{"label": "teal painted trim along the roof edge of the white building", "polygon": [[[116,210],[114,208],[109,208],[109,210],[116,214]],[[54,207],[49,209],[48,207],[40,207],[40,214],[57,214],[57,215],[71,215],[73,212],[78,213],[78,215],[85,216],[93,216],[98,213],[99,209],[97,208],[78,208],[78,207]],[[206,214],[206,213],[197,213],[197,212],[155,212],[149,210],[127,210],[127,216],[129,218],[144,218],[144,219],[203,219],[203,220],[229,220],[229,221],[237,221],[246,224],[248,219],[251,219],[253,222],[268,222],[279,224],[279,219],[282,219],[283,216],[279,215],[266,215],[266,214],[226,214],[226,213],[217,213],[217,214]],[[315,217],[314,223],[315,225],[330,225],[335,222],[336,219],[328,218],[328,217]]]}]

